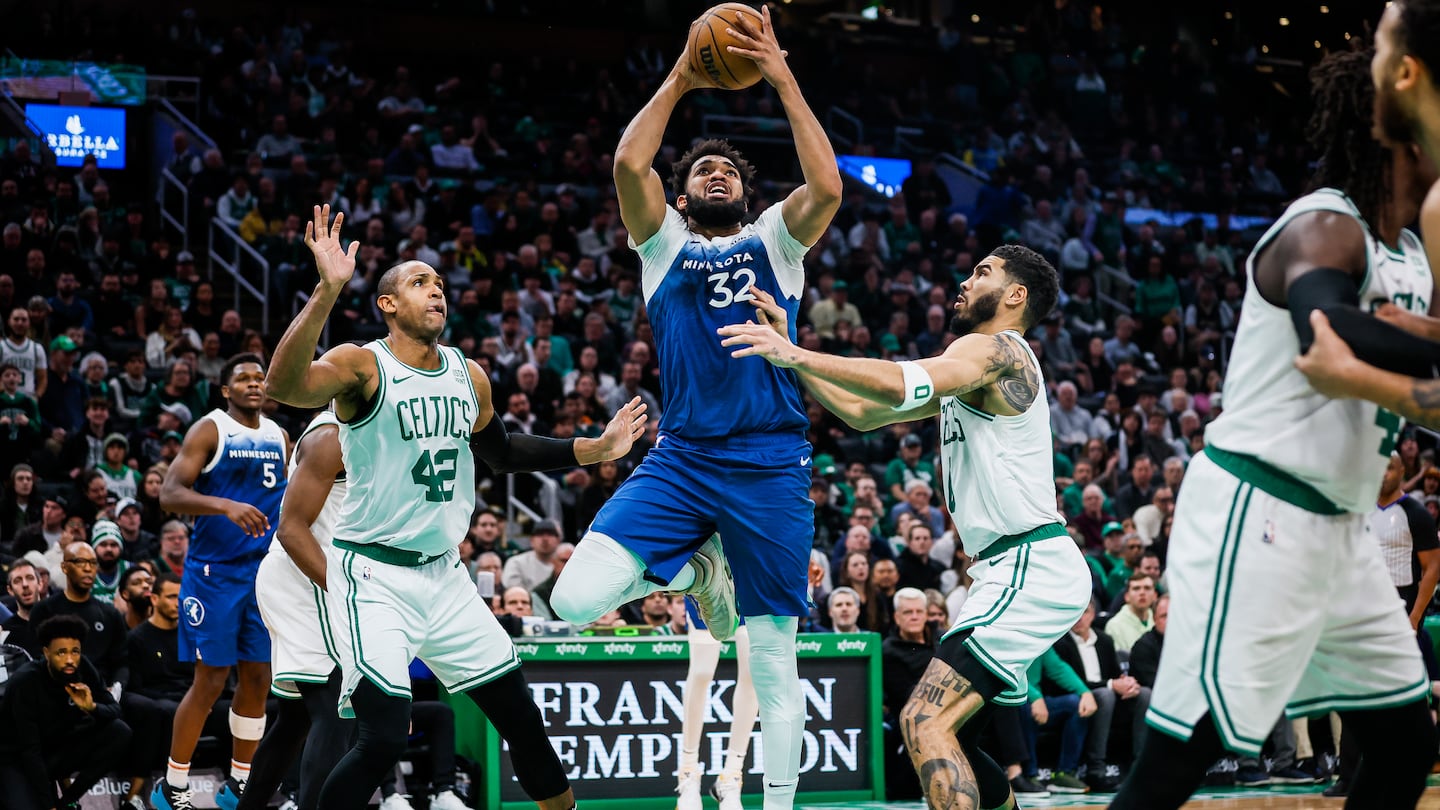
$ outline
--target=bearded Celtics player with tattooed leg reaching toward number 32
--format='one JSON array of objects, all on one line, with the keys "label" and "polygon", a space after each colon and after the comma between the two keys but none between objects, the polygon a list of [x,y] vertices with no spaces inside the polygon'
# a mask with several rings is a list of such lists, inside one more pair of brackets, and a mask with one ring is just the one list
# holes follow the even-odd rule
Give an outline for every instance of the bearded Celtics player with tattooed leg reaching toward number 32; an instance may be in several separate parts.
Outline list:
[{"label": "bearded Celtics player with tattooed leg reaching toward number 32", "polygon": [[936,357],[894,363],[806,352],[755,290],[760,323],[719,331],[734,356],[793,369],[857,430],[940,417],[945,494],[975,584],[901,712],[906,748],[940,809],[1014,807],[1005,771],[976,747],[986,706],[1027,702],[1025,670],[1084,613],[1090,574],[1056,509],[1050,406],[1024,333],[1056,306],[1040,254],[1002,245],[960,285]]}]

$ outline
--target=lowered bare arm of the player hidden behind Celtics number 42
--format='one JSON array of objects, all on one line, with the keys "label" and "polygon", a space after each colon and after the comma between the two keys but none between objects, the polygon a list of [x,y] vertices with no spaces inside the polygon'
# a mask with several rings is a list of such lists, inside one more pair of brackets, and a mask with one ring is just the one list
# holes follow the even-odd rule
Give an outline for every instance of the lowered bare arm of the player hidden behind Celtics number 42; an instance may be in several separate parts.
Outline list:
[{"label": "lowered bare arm of the player hidden behind Celtics number 42", "polygon": [[330,497],[336,476],[346,466],[340,454],[340,427],[321,425],[295,445],[295,474],[285,484],[275,538],[310,581],[325,589],[325,552],[311,530]]}]

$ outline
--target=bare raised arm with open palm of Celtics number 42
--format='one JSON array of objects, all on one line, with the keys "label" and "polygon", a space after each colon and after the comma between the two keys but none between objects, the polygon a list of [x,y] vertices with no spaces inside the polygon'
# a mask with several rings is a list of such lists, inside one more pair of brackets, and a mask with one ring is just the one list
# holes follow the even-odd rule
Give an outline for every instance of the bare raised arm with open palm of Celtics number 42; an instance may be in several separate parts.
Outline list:
[{"label": "bare raised arm with open palm of Celtics number 42", "polygon": [[320,284],[305,308],[281,336],[265,376],[271,399],[297,408],[323,408],[336,398],[356,399],[353,392],[374,376],[372,355],[357,346],[337,346],[315,359],[315,347],[330,310],[356,271],[360,242],[350,242],[348,251],[341,245],[340,226],[344,218],[344,213],[337,213],[331,225],[330,206],[317,205],[314,221],[305,223],[305,245],[315,254]]}]

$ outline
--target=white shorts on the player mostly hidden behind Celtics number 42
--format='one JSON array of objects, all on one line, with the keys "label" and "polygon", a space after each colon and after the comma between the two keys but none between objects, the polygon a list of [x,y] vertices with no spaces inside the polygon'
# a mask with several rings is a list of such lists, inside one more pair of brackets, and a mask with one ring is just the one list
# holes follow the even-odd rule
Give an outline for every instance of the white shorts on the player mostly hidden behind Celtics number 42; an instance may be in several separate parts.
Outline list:
[{"label": "white shorts on the player mostly hidden behind Celtics number 42", "polygon": [[271,636],[271,692],[298,699],[298,683],[330,680],[337,659],[325,592],[288,553],[271,551],[255,574],[255,598]]}]

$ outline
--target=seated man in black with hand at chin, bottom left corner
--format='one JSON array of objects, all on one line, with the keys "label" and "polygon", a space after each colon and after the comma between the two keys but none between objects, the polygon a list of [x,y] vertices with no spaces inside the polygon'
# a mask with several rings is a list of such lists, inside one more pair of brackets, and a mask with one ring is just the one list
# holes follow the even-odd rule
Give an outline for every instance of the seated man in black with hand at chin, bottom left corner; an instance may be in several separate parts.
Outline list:
[{"label": "seated man in black with hand at chin, bottom left corner", "polygon": [[[81,654],[85,623],[58,615],[36,628],[43,657],[24,664],[0,703],[0,806],[78,807],[130,744],[99,672]],[[76,773],[78,771],[78,773]],[[56,781],[75,774],[59,793]]]}]

